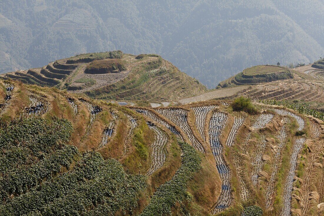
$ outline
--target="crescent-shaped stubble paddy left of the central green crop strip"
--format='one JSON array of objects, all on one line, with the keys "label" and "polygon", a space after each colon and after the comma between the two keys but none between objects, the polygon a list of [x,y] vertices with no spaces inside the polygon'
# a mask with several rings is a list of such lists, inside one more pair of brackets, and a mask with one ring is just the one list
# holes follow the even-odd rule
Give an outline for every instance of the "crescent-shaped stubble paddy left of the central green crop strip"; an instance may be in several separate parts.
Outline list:
[{"label": "crescent-shaped stubble paddy left of the central green crop strip", "polygon": [[160,169],[165,163],[167,157],[166,145],[168,143],[168,136],[159,129],[154,123],[147,122],[147,125],[155,133],[154,142],[152,143],[151,164],[146,175],[152,175],[156,170]]}]

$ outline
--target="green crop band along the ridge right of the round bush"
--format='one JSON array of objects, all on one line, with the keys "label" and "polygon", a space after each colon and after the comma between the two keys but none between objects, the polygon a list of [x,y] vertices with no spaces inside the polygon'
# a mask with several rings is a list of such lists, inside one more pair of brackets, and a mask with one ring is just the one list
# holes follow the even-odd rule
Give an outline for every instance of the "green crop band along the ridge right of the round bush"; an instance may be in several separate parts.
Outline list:
[{"label": "green crop band along the ridge right of the round bush", "polygon": [[290,101],[277,101],[277,100],[260,100],[260,103],[268,104],[268,105],[277,105],[284,106],[289,109],[295,110],[300,114],[312,115],[315,118],[318,118],[324,121],[324,113],[318,110],[309,109],[305,103],[294,103]]}]

